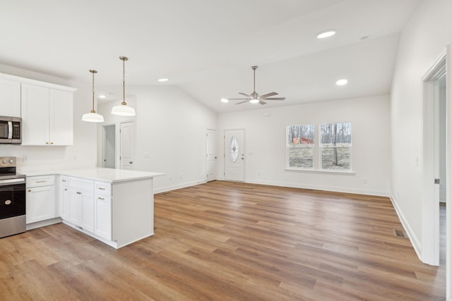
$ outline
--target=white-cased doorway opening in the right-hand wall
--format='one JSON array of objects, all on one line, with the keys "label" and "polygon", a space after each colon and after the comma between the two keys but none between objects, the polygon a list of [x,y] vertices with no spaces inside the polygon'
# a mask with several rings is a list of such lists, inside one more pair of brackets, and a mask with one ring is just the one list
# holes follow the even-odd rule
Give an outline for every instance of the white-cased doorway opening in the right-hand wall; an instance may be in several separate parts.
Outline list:
[{"label": "white-cased doorway opening in the right-hand wall", "polygon": [[[439,266],[440,250],[446,245],[445,221],[440,223],[440,205],[446,195],[446,51],[424,78],[422,175],[422,262]],[[441,200],[443,202],[441,202]],[[441,207],[442,208],[442,207]],[[445,219],[445,214],[444,214]],[[444,227],[441,228],[440,226]],[[441,235],[444,233],[444,235]],[[444,241],[443,241],[444,240]],[[442,252],[441,252],[442,254]],[[444,252],[444,255],[446,252]],[[445,262],[441,259],[441,262]]]}]

